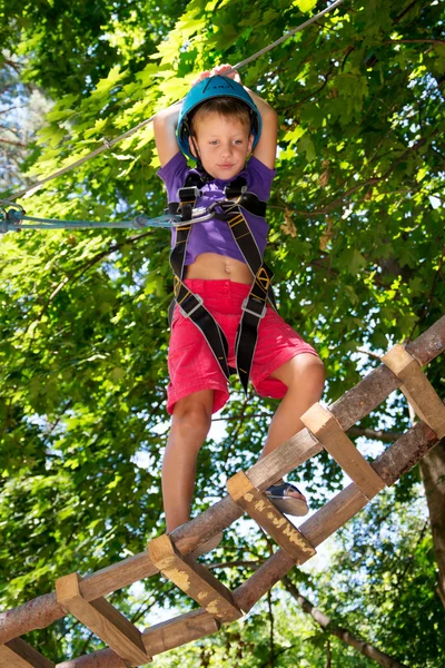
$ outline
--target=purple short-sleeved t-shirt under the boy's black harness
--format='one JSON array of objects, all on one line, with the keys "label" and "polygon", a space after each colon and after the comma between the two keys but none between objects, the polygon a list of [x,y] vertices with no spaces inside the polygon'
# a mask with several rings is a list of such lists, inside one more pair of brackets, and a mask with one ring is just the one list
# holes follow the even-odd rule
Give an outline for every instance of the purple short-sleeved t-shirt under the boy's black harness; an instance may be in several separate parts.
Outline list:
[{"label": "purple short-sleeved t-shirt under the boy's black harness", "polygon": [[[167,187],[168,200],[178,202],[178,189],[184,186],[186,178],[191,169],[181,153],[177,153],[171,160],[158,170],[158,176],[164,180]],[[247,183],[247,189],[254,193],[258,199],[267,202],[270,196],[270,186],[275,176],[275,169],[269,169],[260,160],[251,157],[246,165],[246,169],[238,176],[244,176]],[[224,188],[231,180],[214,179],[202,188],[202,196],[198,197],[196,206],[208,207],[218,199],[225,199]],[[249,212],[243,210],[247,223],[253,232],[259,252],[263,256],[267,244],[268,225],[261,216],[255,216]],[[176,244],[176,229],[171,230],[171,247]],[[233,237],[229,226],[225,220],[210,218],[206,223],[196,223],[191,227],[189,242],[187,244],[186,265],[194,264],[201,253],[217,253],[226,255],[240,262],[246,262]]]}]

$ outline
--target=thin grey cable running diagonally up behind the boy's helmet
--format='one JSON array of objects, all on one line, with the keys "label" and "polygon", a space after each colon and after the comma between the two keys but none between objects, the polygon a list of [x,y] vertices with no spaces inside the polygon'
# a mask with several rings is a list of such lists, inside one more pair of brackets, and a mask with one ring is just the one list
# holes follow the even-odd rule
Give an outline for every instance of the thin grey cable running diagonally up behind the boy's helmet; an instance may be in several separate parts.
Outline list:
[{"label": "thin grey cable running diagonally up behind the boy's helmet", "polygon": [[[240,62],[238,62],[237,65],[235,65],[233,67],[233,69],[234,70],[238,70],[241,67],[244,67],[245,65],[247,65],[248,62],[251,62],[253,60],[256,60],[257,58],[259,58],[259,56],[263,56],[264,53],[267,53],[271,49],[275,49],[275,47],[277,47],[278,45],[280,45],[281,42],[284,42],[289,37],[293,37],[294,35],[296,35],[300,30],[304,30],[305,28],[307,28],[312,23],[315,23],[315,21],[318,21],[318,19],[320,19],[327,12],[330,12],[330,11],[333,11],[333,9],[336,9],[345,0],[336,0],[335,2],[333,2],[332,4],[329,4],[329,7],[327,7],[326,9],[324,9],[323,11],[320,11],[319,13],[315,14],[314,17],[312,17],[310,19],[308,19],[307,21],[305,21],[300,26],[297,26],[297,28],[294,28],[293,30],[289,30],[288,32],[286,32],[283,37],[280,37],[279,39],[277,39],[275,42],[270,43],[268,47],[265,47],[260,51],[257,51],[256,53],[254,53],[249,58],[246,58],[246,60],[241,60]],[[178,101],[181,101],[181,100],[178,100]],[[103,146],[100,146],[99,148],[97,148],[93,151],[89,153],[88,155],[83,156],[79,160],[76,160],[75,163],[71,163],[71,165],[67,165],[67,167],[62,167],[61,169],[59,169],[58,171],[55,171],[50,176],[47,176],[46,178],[42,178],[41,180],[34,181],[28,188],[23,188],[22,190],[19,190],[14,195],[11,195],[11,197],[9,197],[9,200],[14,200],[14,199],[18,199],[19,197],[23,197],[24,195],[27,195],[31,190],[36,190],[36,189],[40,188],[43,184],[47,184],[48,181],[57,178],[58,176],[62,176],[63,174],[67,174],[67,171],[70,171],[71,169],[75,169],[76,167],[79,167],[80,165],[83,165],[83,163],[86,163],[87,160],[90,160],[91,158],[95,158],[96,156],[100,155],[101,153],[103,153],[103,151],[112,148],[116,144],[118,144],[122,139],[126,139],[127,137],[131,137],[131,135],[134,135],[135,132],[137,132],[141,128],[144,128],[144,127],[148,126],[150,122],[152,122],[154,118],[155,118],[155,116],[151,116],[150,118],[148,118],[146,120],[142,120],[142,122],[140,122],[136,127],[131,128],[130,130],[127,130],[127,132],[123,132],[123,135],[120,135],[119,137],[116,137],[115,139],[108,140],[108,139],[103,138],[102,139]]]}]

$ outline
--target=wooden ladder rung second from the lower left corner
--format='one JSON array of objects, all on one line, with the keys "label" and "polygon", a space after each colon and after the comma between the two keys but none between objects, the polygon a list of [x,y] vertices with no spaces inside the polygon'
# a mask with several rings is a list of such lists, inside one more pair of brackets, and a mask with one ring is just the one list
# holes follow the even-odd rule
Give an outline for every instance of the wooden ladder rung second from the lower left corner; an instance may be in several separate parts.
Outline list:
[{"label": "wooden ladder rung second from the lower left corner", "polygon": [[105,598],[86,601],[79,589],[78,573],[56,581],[57,601],[98,638],[103,640],[128,666],[149,664],[141,632]]}]

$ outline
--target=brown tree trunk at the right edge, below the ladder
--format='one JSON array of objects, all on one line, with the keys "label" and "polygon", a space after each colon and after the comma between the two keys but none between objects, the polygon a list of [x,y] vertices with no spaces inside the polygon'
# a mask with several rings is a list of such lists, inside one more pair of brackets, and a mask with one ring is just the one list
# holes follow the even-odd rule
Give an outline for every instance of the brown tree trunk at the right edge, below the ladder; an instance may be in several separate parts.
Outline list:
[{"label": "brown tree trunk at the right edge, below the ladder", "polygon": [[437,593],[445,608],[445,439],[421,460],[419,466],[438,566]]}]

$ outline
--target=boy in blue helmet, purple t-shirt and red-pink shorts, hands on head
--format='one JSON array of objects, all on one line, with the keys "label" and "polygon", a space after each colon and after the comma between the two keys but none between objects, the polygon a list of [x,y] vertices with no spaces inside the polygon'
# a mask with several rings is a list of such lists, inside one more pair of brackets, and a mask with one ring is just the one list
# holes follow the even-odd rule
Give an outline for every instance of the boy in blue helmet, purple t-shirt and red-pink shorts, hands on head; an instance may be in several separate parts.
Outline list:
[{"label": "boy in blue helmet, purple t-shirt and red-pink shorts, hands on head", "polygon": [[[314,348],[277,315],[270,304],[259,314],[246,306],[251,297],[250,288],[257,268],[254,272],[247,264],[241,237],[250,238],[249,248],[256,246],[261,261],[267,223],[260,206],[269,198],[275,176],[277,125],[276,112],[260,97],[241,87],[239,75],[230,66],[202,72],[187,96],[182,110],[178,104],[155,117],[155,138],[161,164],[158,174],[167,186],[169,202],[177,199],[177,191],[184,187],[187,177],[188,183],[190,178],[191,183],[199,178],[198,190],[191,199],[195,198],[196,206],[215,207],[215,202],[226,198],[224,188],[229,184],[234,186],[234,181],[241,177],[240,183],[246,184],[250,194],[250,199],[246,198],[250,202],[248,208],[253,209],[239,208],[243,215],[230,218],[235,223],[229,226],[227,219],[220,219],[224,217],[221,207],[216,207],[212,209],[215,218],[191,225],[188,243],[182,243],[179,237],[174,239],[178,243],[170,261],[176,273],[177,305],[171,323],[167,402],[172,421],[162,462],[162,498],[168,532],[189,521],[198,451],[210,429],[211,414],[228,399],[227,377],[235,366],[235,357],[240,376],[243,366],[249,364],[240,363],[239,358],[246,347],[244,340],[235,341],[241,316],[246,316],[246,321],[249,317],[254,320],[257,327],[257,341],[256,334],[253,334],[254,342],[247,344],[247,356],[253,355],[250,380],[258,394],[281,399],[261,458],[303,429],[300,415],[322,395],[324,366]],[[179,148],[197,160],[197,170],[187,167]],[[246,165],[251,150],[253,157]],[[243,189],[241,186],[238,195],[243,193],[244,197],[245,190],[246,187]],[[192,188],[187,194],[190,191]],[[181,203],[181,210],[185,210],[185,203]],[[188,215],[190,213],[191,207]],[[231,229],[241,218],[247,222],[251,234],[239,235],[238,244]],[[261,265],[257,278],[265,276],[267,271]],[[254,281],[254,286],[259,283]],[[264,285],[270,302],[267,277]],[[185,304],[190,296],[195,305],[186,313],[178,303]],[[255,295],[249,304],[259,303]],[[206,321],[207,325],[210,322],[216,335],[211,332],[202,334],[205,327],[196,317],[198,312],[204,313],[201,321]],[[228,351],[220,353],[218,346],[224,336]],[[245,386],[248,375],[247,371]],[[267,494],[288,514],[301,515],[308,510],[299,490],[283,480],[269,488]],[[201,546],[195,557],[214,549],[220,539],[221,536],[217,536]]]}]

